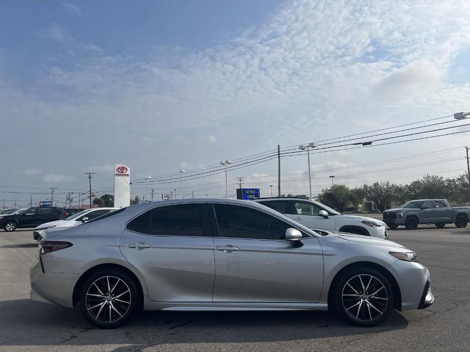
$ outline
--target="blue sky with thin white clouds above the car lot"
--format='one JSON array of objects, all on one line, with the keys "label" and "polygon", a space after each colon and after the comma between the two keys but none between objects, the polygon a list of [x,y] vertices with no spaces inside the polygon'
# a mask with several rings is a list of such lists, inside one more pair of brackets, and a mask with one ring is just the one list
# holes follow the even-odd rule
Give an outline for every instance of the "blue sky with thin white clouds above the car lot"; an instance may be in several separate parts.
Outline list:
[{"label": "blue sky with thin white clouds above the car lot", "polygon": [[[457,0],[2,2],[1,190],[85,190],[85,171],[97,172],[99,190],[112,184],[115,162],[142,178],[468,111],[469,11]],[[319,154],[311,164],[351,167],[465,143],[457,135]],[[462,163],[345,169],[343,182],[451,176]],[[303,157],[283,159],[283,171],[286,193],[308,190]],[[232,186],[244,176],[269,192],[276,164],[236,172]],[[224,180],[188,182],[186,191],[218,196]]]}]

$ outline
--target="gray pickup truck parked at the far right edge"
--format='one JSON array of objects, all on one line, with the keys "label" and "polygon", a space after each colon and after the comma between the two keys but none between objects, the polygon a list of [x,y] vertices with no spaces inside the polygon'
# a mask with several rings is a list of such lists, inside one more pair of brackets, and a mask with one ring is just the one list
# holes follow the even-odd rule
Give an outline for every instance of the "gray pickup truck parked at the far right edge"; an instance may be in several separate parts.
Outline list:
[{"label": "gray pickup truck parked at the far right edge", "polygon": [[404,225],[414,230],[419,224],[434,224],[444,227],[455,224],[466,227],[470,218],[470,206],[450,206],[447,199],[410,200],[400,208],[388,209],[384,212],[384,223],[391,229]]}]

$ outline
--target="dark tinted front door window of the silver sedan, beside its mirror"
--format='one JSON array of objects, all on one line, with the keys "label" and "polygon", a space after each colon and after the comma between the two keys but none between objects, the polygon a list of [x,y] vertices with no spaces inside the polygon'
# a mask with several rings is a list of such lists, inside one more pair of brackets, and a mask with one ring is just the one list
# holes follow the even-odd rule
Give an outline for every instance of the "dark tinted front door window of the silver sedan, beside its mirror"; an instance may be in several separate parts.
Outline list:
[{"label": "dark tinted front door window of the silver sedan, beside its mirror", "polygon": [[284,239],[288,223],[269,214],[241,205],[214,204],[221,237],[248,239]]}]

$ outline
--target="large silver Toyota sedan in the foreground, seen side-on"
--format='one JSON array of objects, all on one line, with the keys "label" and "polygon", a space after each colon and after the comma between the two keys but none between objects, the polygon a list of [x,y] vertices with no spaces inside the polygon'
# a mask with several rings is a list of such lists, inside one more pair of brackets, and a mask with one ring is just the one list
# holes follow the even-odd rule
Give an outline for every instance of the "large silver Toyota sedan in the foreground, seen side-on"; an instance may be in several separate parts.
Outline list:
[{"label": "large silver Toyota sedan in the foreground, seen side-on", "polygon": [[[325,235],[327,234],[327,235]],[[433,303],[429,271],[400,244],[303,227],[240,200],[138,204],[47,232],[34,300],[100,328],[145,310],[328,310],[360,326]]]}]

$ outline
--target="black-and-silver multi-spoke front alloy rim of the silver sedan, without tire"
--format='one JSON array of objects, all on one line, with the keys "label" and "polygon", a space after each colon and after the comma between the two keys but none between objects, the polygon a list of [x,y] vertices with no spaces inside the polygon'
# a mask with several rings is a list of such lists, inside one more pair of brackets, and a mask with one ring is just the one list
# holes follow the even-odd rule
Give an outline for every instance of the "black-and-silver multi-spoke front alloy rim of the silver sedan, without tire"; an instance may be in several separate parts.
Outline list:
[{"label": "black-and-silver multi-spoke front alloy rim of the silver sedan, without tire", "polygon": [[387,310],[388,294],[382,281],[369,274],[350,278],[341,292],[347,313],[357,321],[371,322]]}]

